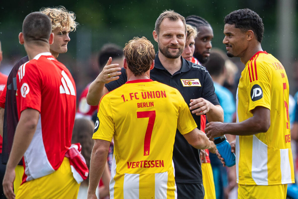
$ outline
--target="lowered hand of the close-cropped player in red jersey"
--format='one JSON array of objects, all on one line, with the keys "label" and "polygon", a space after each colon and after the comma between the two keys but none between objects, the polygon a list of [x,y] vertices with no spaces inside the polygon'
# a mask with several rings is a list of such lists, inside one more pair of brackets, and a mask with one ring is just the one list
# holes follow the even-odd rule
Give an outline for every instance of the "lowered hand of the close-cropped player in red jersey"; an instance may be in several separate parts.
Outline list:
[{"label": "lowered hand of the close-cropped player in red jersey", "polygon": [[16,197],[13,192],[13,181],[15,178],[16,178],[16,173],[14,169],[7,168],[3,178],[2,186],[3,186],[4,195],[8,199],[15,199]]}]

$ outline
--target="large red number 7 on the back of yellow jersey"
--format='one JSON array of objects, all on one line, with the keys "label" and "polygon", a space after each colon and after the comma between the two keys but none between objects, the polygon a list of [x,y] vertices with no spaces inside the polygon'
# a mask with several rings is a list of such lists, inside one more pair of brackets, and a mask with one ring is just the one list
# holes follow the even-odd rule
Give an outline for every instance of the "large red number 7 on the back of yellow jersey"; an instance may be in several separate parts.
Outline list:
[{"label": "large red number 7 on the back of yellow jersey", "polygon": [[155,110],[137,112],[137,118],[145,118],[145,117],[149,117],[149,120],[148,120],[147,130],[146,130],[145,139],[144,139],[144,155],[149,155],[151,135],[152,135],[153,126],[155,122]]}]

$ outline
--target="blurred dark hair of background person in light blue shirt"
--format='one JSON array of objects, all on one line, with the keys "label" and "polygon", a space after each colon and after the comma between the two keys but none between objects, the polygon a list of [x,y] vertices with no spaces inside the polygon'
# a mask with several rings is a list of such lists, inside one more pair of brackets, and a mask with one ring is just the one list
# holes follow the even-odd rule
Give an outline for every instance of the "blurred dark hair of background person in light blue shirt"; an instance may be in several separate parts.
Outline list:
[{"label": "blurred dark hair of background person in light blue shirt", "polygon": [[225,59],[220,53],[211,51],[205,67],[211,76],[218,77],[224,71],[225,62]]}]

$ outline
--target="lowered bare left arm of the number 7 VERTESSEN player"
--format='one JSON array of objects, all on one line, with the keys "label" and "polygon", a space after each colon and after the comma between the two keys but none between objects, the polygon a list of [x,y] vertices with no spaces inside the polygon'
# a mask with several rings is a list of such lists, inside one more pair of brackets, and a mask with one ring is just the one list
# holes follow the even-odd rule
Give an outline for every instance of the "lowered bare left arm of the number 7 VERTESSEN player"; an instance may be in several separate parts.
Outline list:
[{"label": "lowered bare left arm of the number 7 VERTESSEN player", "polygon": [[90,160],[88,194],[95,194],[96,187],[105,168],[107,154],[108,148],[103,148],[97,143],[94,144]]}]

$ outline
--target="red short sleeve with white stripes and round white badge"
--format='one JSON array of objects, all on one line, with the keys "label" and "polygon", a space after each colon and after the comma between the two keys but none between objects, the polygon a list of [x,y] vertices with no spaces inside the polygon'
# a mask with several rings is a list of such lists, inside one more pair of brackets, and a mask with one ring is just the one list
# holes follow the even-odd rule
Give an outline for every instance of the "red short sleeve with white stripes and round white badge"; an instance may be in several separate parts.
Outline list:
[{"label": "red short sleeve with white stripes and round white badge", "polygon": [[41,109],[41,74],[34,63],[26,62],[18,69],[17,103],[19,113],[25,109]]}]

